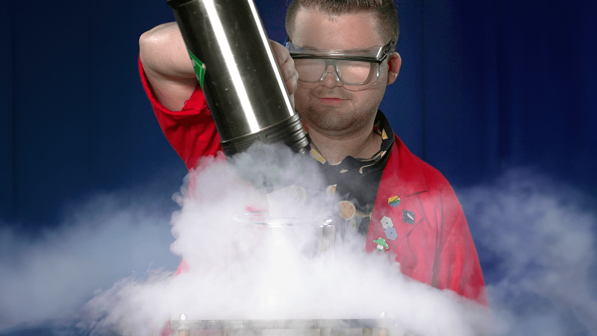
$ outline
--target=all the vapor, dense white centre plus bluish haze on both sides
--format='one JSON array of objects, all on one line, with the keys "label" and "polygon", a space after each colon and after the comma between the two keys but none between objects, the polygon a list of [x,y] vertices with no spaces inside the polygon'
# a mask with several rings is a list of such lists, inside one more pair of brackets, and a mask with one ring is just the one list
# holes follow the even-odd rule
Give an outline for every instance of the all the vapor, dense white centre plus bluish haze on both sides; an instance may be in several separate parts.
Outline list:
[{"label": "all the vapor, dense white centre plus bluish haze on both sides", "polygon": [[[238,170],[221,157],[204,158],[187,177],[191,190],[185,185],[174,197],[181,208],[172,216],[159,209],[163,204],[124,206],[122,194],[113,194],[94,198],[39,237],[0,229],[0,335],[43,325],[64,336],[157,335],[180,313],[189,319],[384,313],[398,320],[398,331],[421,336],[597,335],[596,219],[586,195],[529,170],[458,191],[484,262],[490,322],[454,293],[402,276],[389,255],[364,253],[362,237],[338,236],[333,249],[313,254],[303,253],[312,248],[309,230],[239,225],[235,214],[263,207],[264,191],[290,184],[304,185],[311,200],[295,214],[325,215],[336,203],[316,191],[322,180],[314,161],[288,155],[266,163],[241,156]],[[260,190],[239,174],[253,176]],[[183,255],[190,271],[173,277]]]}]

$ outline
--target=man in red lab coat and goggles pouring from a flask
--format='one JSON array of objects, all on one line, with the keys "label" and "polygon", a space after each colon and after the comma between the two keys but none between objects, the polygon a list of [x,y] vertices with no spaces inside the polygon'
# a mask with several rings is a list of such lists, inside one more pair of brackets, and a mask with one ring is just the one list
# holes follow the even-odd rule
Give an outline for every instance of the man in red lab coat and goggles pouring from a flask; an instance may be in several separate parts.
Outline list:
[{"label": "man in red lab coat and goggles pouring from a flask", "polygon": [[[272,48],[327,191],[342,199],[344,225],[367,237],[367,251],[395,253],[407,276],[487,305],[454,191],[408,151],[378,111],[401,66],[393,1],[295,0],[286,28],[296,69],[284,47],[273,42]],[[321,59],[304,58],[313,53]],[[376,56],[355,62],[364,54]],[[156,117],[187,167],[214,155],[219,136],[176,24],[141,36],[140,65]]]}]

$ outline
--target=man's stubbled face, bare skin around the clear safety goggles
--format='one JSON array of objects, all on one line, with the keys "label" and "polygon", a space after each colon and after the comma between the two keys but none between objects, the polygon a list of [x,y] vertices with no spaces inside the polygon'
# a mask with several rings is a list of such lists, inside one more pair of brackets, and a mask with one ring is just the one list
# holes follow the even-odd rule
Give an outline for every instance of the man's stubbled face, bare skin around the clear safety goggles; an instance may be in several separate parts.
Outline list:
[{"label": "man's stubbled face, bare skin around the clear safety goggles", "polygon": [[[389,42],[381,38],[376,19],[370,13],[331,17],[304,8],[297,13],[290,38],[301,47],[341,50],[361,50]],[[389,84],[387,62],[386,59],[382,63],[378,83],[361,91],[347,90],[329,73],[315,88],[302,88],[299,83],[294,101],[303,123],[308,129],[329,136],[346,136],[367,127]],[[391,82],[395,76],[390,73],[390,77]]]}]

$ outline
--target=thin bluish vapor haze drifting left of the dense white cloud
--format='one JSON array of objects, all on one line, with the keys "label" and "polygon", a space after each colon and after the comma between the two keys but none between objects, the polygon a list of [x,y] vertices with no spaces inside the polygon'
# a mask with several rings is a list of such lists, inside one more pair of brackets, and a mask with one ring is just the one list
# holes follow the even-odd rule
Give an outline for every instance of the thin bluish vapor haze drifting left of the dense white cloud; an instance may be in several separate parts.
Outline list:
[{"label": "thin bluish vapor haze drifting left of the dense white cloud", "polygon": [[0,227],[0,332],[70,320],[122,277],[176,267],[170,214],[122,206],[122,198],[97,196],[35,236]]}]

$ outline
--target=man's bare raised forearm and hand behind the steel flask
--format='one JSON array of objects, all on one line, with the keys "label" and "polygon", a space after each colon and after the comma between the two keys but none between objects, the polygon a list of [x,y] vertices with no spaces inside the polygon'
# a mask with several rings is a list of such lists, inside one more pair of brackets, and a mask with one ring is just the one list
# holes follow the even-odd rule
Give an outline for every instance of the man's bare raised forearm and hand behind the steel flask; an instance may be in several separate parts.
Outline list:
[{"label": "man's bare raised forearm and hand behind the steel flask", "polygon": [[[297,87],[298,74],[288,50],[270,41],[289,94]],[[193,63],[176,22],[147,30],[139,38],[139,57],[153,93],[170,111],[180,111],[197,87]]]}]

